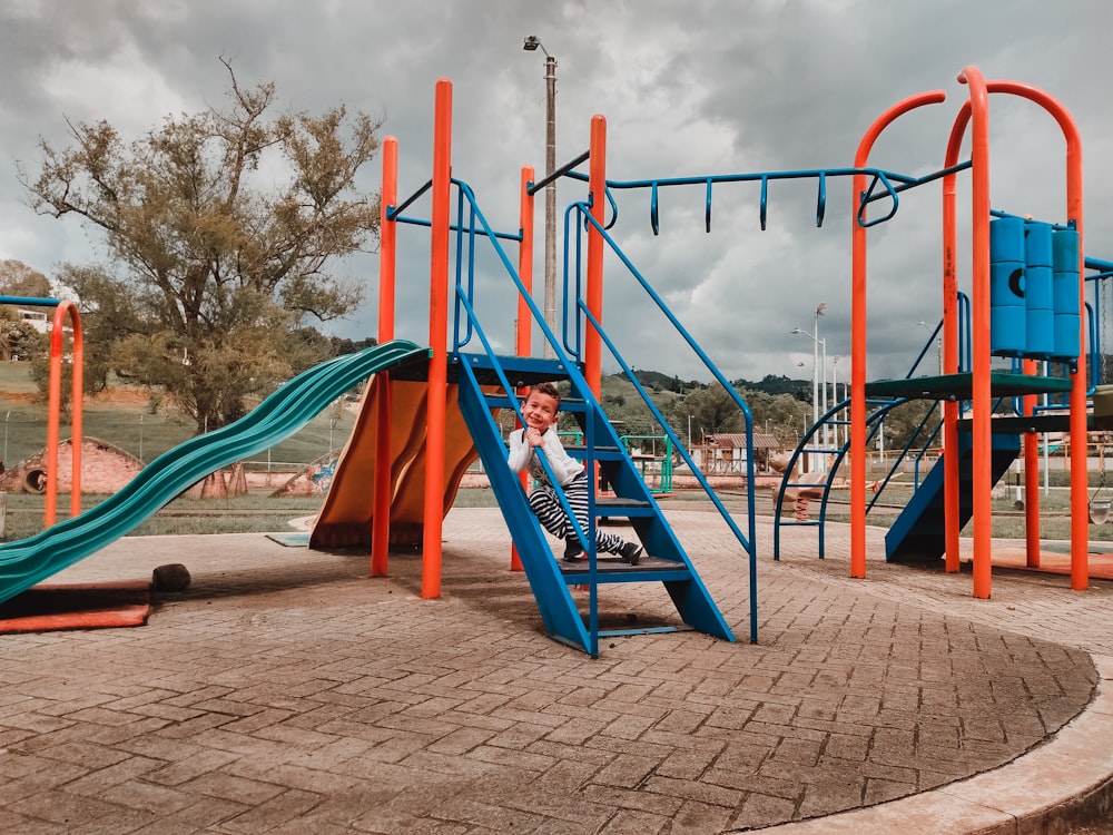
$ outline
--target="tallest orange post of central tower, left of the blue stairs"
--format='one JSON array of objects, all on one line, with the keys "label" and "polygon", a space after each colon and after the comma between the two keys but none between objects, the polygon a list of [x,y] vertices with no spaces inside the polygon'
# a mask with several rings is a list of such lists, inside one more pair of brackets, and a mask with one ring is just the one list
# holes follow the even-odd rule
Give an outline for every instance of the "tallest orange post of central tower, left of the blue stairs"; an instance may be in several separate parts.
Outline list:
[{"label": "tallest orange post of central tower, left of the blue stairs", "polygon": [[436,81],[433,121],[433,200],[430,250],[429,364],[425,435],[425,508],[422,543],[423,598],[441,597],[444,527],[444,445],[449,396],[449,215],[452,187],[452,82]]}]

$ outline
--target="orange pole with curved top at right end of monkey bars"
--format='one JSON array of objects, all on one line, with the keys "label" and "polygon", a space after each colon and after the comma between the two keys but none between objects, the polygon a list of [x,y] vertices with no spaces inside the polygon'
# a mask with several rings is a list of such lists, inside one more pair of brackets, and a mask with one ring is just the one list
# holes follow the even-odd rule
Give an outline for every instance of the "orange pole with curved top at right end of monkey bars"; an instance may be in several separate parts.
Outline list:
[{"label": "orange pole with curved top at right end of monkey bars", "polygon": [[[858,143],[855,168],[865,168],[869,151],[880,132],[898,116],[944,101],[942,91],[924,92],[905,99],[879,116]],[[867,176],[853,177],[850,267],[850,577],[866,576],[866,229],[858,223],[858,204],[867,187]]]}]

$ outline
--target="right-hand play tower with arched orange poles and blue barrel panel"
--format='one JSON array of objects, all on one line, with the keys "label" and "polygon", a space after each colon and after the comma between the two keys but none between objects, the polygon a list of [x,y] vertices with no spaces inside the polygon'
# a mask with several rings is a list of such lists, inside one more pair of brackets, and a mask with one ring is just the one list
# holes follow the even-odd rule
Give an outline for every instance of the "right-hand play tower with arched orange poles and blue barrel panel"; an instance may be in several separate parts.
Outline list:
[{"label": "right-hand play tower with arched orange poles and blue barrel panel", "polygon": [[[1085,258],[1083,253],[1082,150],[1078,131],[1070,114],[1042,90],[1015,81],[986,81],[979,70],[967,67],[958,76],[969,89],[959,108],[947,145],[944,168],[927,177],[899,178],[863,170],[855,175],[853,227],[853,321],[850,439],[839,452],[850,458],[851,550],[850,573],[865,576],[865,520],[867,504],[866,450],[885,414],[909,399],[942,401],[942,446],[944,453],[919,484],[886,537],[889,560],[929,561],[945,558],[948,571],[959,567],[959,531],[974,523],[974,596],[991,593],[991,490],[1018,453],[1024,454],[1027,564],[1038,566],[1038,466],[1037,433],[1068,432],[1084,439],[1095,419],[1087,413],[1087,395],[1097,382],[1100,343],[1093,326],[1093,307],[1087,304],[1083,271],[1107,265]],[[1066,141],[1066,214],[1061,223],[992,210],[989,205],[988,101],[991,95],[1023,97],[1050,114]],[[870,150],[897,118],[926,105],[945,100],[942,91],[914,96],[883,114],[864,135],[855,159],[865,168]],[[967,161],[958,154],[967,132],[972,153]],[[971,173],[972,191],[972,292],[957,285],[956,181]],[[886,180],[897,181],[896,187]],[[897,193],[930,180],[943,184],[943,317],[932,340],[942,333],[942,371],[936,376],[913,376],[915,365],[903,380],[866,382],[866,242],[869,229],[893,217]],[[875,195],[878,184],[886,193]],[[868,209],[878,199],[890,200],[889,210],[869,218]],[[1093,282],[1095,305],[1100,285]],[[1082,315],[1087,312],[1089,321]],[[1090,336],[1089,357],[1085,353]],[[929,341],[925,345],[927,350]],[[919,358],[923,358],[920,352]],[[1012,367],[994,370],[992,358],[1011,357]],[[917,363],[919,362],[917,358]],[[1087,358],[1091,374],[1087,376]],[[1044,372],[1040,373],[1040,366]],[[1048,365],[1055,366],[1048,373]],[[1037,404],[1044,395],[1045,404]],[[1063,400],[1050,403],[1060,395]],[[997,404],[1016,403],[1015,416],[1002,416]],[[824,420],[830,420],[843,404],[828,412],[801,441],[810,441]],[[933,409],[929,414],[935,414]],[[927,443],[937,443],[939,428],[929,430]],[[1022,443],[1023,440],[1023,443]],[[799,454],[799,450],[798,450]],[[1087,584],[1087,466],[1086,444],[1071,444],[1071,587]],[[918,465],[918,464],[917,464]],[[837,463],[836,463],[837,468]],[[836,468],[833,468],[836,469]],[[887,481],[887,479],[885,479]],[[883,482],[884,483],[884,482]],[[788,481],[781,487],[792,487]],[[824,494],[826,507],[827,493]],[[820,557],[823,556],[823,522]],[[780,523],[777,525],[779,537]],[[779,539],[777,540],[779,544]],[[776,549],[775,549],[776,550]],[[775,554],[776,556],[776,554]]]}]

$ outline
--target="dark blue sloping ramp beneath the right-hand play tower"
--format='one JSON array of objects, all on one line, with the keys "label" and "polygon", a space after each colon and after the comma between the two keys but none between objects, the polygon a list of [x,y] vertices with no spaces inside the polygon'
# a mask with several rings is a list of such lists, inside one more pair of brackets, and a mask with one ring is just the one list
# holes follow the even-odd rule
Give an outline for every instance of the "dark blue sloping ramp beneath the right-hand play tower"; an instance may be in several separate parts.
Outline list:
[{"label": "dark blue sloping ramp beneath the right-hand play tower", "polygon": [[[959,432],[959,528],[965,525],[974,514],[972,450],[971,433]],[[991,461],[994,483],[1005,474],[1020,451],[1021,436],[1018,434],[996,432],[993,434]],[[943,469],[943,458],[939,458],[885,534],[885,559],[887,562],[928,563],[938,560],[945,553]]]}]

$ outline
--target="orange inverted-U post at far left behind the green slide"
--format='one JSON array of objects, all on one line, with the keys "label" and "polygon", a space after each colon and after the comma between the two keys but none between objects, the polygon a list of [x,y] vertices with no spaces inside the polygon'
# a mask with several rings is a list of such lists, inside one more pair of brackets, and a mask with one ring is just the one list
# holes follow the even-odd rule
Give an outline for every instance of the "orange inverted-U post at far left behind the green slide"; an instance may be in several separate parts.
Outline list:
[{"label": "orange inverted-U post at far left behind the green slide", "polygon": [[70,466],[70,515],[81,512],[81,445],[82,445],[82,389],[85,341],[81,335],[81,317],[77,305],[62,299],[55,308],[50,330],[50,382],[47,393],[47,493],[43,522],[50,527],[58,518],[58,444],[61,432],[62,404],[62,353],[66,337],[66,317],[72,323],[73,341],[70,351],[71,374],[71,466]]}]

